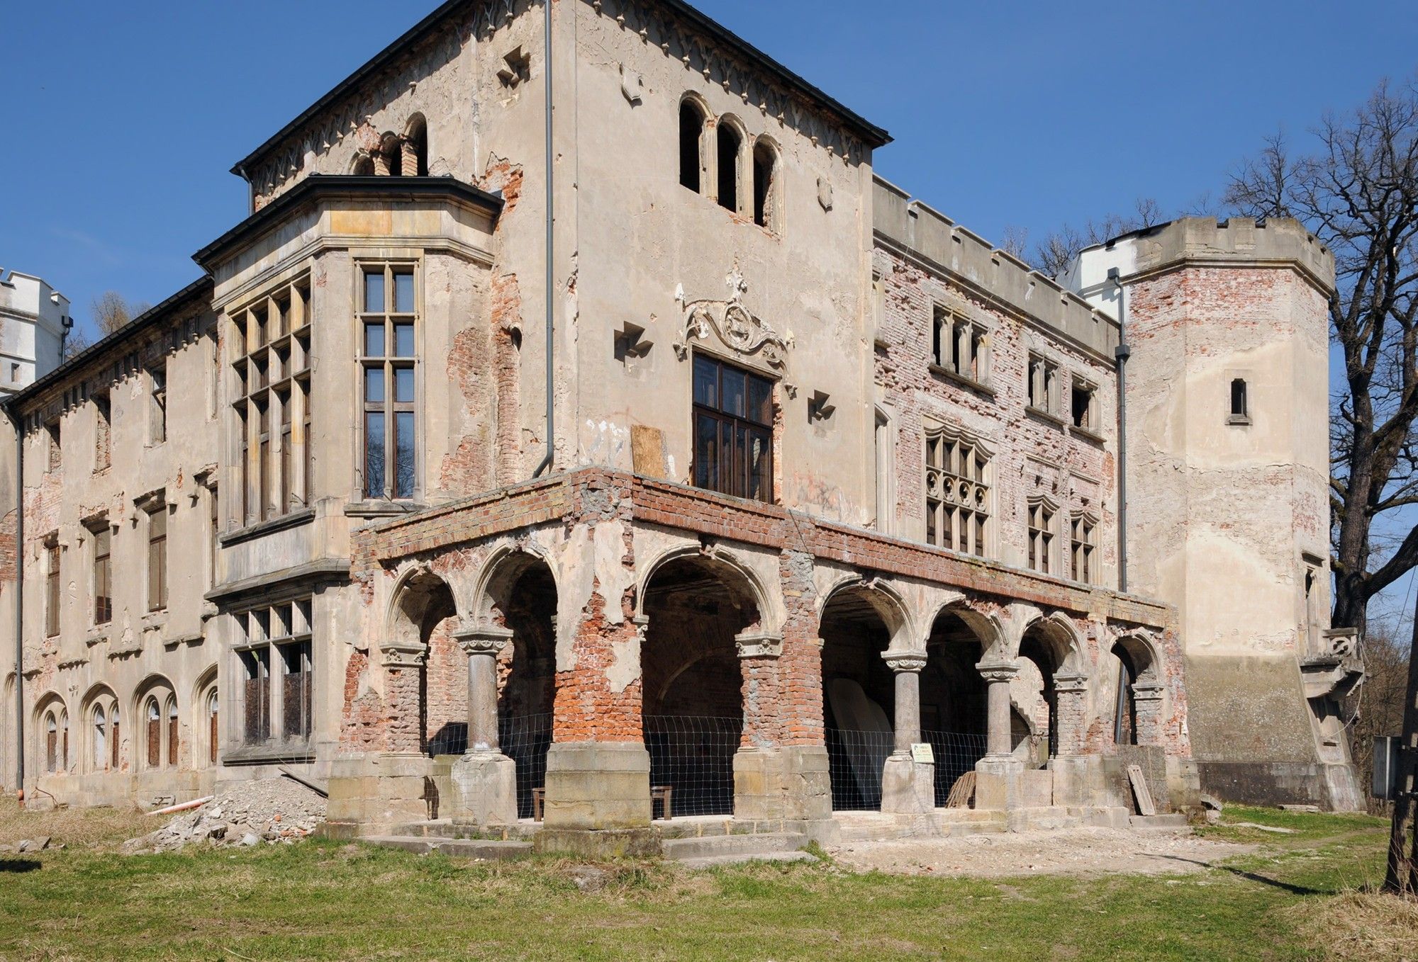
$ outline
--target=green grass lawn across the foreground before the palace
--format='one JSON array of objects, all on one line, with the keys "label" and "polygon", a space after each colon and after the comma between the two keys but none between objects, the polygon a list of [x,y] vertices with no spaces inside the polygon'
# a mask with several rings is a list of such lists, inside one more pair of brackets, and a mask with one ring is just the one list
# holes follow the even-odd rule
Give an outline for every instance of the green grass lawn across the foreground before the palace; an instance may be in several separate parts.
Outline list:
[{"label": "green grass lawn across the foreground before the palace", "polygon": [[[576,863],[550,859],[469,863],[333,842],[146,856],[71,846],[0,856],[0,958],[1218,962],[1353,951],[1323,919],[1349,911],[1346,890],[1381,880],[1387,823],[1225,815],[1299,832],[1205,829],[1262,849],[1173,877],[627,861],[598,866],[593,891],[577,887]],[[1367,958],[1408,953],[1392,945]]]}]

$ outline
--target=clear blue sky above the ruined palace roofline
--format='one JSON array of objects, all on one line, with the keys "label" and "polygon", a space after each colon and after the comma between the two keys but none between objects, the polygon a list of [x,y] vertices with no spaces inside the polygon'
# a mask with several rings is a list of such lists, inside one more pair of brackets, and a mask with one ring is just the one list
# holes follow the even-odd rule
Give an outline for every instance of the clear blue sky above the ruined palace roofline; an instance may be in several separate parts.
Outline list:
[{"label": "clear blue sky above the ruined palace roofline", "polygon": [[[106,289],[176,292],[245,214],[231,164],[434,6],[9,4],[0,266],[81,324]],[[1357,23],[1295,0],[698,6],[889,129],[878,171],[994,241],[1218,194],[1263,135],[1303,137],[1418,68],[1411,0],[1364,0]]]}]

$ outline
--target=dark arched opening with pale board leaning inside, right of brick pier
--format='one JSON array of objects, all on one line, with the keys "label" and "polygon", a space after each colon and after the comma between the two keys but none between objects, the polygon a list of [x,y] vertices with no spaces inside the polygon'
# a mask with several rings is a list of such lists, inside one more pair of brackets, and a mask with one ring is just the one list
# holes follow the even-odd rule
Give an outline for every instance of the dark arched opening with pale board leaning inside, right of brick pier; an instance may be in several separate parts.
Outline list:
[{"label": "dark arched opening with pale board leaning inside, right of brick pier", "polygon": [[896,738],[896,679],[882,659],[896,625],[883,611],[885,596],[859,584],[835,591],[822,608],[822,721],[838,812],[882,806],[882,774]]}]

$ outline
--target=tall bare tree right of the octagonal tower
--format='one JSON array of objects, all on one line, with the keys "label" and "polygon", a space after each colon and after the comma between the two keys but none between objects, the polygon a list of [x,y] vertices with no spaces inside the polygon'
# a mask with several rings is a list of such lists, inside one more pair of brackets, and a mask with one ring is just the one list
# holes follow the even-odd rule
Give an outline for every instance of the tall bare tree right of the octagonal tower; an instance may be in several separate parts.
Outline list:
[{"label": "tall bare tree right of the octagonal tower", "polygon": [[1384,81],[1314,133],[1306,156],[1282,135],[1266,140],[1225,198],[1252,217],[1295,217],[1334,252],[1334,625],[1364,629],[1368,601],[1418,567],[1418,526],[1391,545],[1375,531],[1418,506],[1418,84]]}]

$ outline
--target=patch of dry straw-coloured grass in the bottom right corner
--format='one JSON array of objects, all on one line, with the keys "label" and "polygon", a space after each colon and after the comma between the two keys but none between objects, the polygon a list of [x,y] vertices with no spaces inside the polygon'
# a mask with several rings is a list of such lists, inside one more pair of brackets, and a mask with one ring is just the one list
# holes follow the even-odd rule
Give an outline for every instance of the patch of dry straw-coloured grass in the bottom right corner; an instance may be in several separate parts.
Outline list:
[{"label": "patch of dry straw-coloured grass in the bottom right corner", "polygon": [[1337,962],[1418,961],[1418,900],[1347,891],[1288,910],[1295,925]]}]

